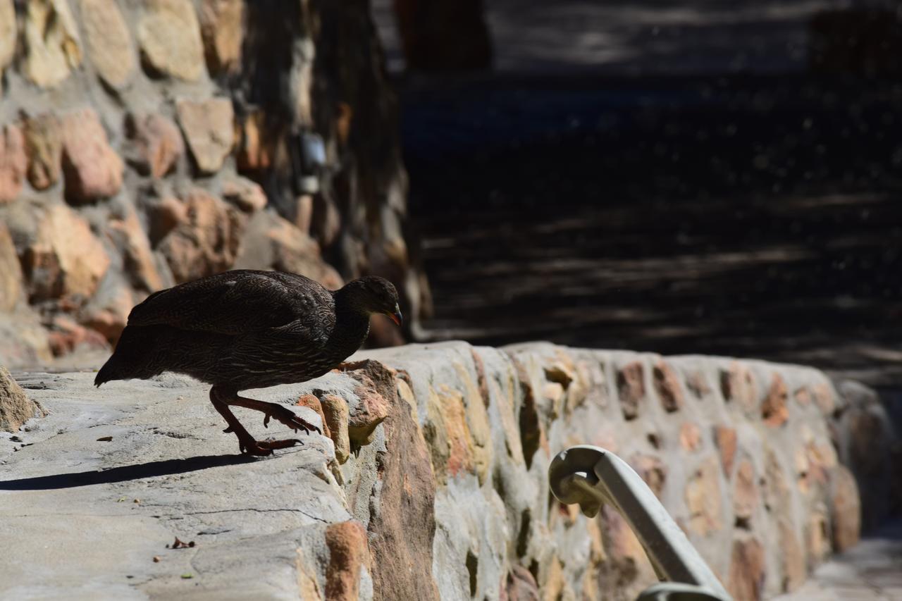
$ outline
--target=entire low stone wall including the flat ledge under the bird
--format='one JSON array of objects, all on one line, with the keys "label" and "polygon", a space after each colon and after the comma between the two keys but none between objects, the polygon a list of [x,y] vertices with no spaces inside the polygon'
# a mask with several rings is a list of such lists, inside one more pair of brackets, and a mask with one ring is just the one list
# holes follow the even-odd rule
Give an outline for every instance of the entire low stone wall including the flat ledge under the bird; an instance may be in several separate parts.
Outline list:
[{"label": "entire low stone wall including the flat ledge under the bird", "polygon": [[[248,393],[290,403],[323,430],[253,465],[218,458],[235,453],[234,438],[219,432],[205,386],[166,377],[114,383],[98,400],[92,374],[23,374],[51,415],[26,424],[34,444],[11,454],[4,476],[21,480],[0,489],[41,492],[5,495],[0,515],[12,524],[27,517],[16,495],[48,506],[60,493],[33,483],[71,471],[54,462],[85,457],[78,470],[95,485],[60,519],[111,511],[103,499],[140,498],[129,515],[152,533],[116,539],[133,559],[95,579],[138,574],[131,586],[143,593],[632,599],[655,576],[626,522],[610,507],[587,519],[548,490],[550,459],[594,444],[637,470],[745,601],[799,587],[858,541],[862,520],[898,507],[898,444],[879,400],[812,368],[545,343],[445,343],[353,359],[306,384]],[[91,426],[82,442],[77,427],[59,425],[73,411]],[[114,440],[94,442],[105,434]],[[37,460],[41,453],[49,459]],[[90,476],[129,464],[146,477],[103,484],[104,472]],[[161,545],[173,532],[197,532],[202,544],[168,564],[143,564],[148,541]],[[79,569],[95,582],[90,566]],[[177,578],[182,569],[192,582]],[[254,577],[263,571],[267,578]],[[43,585],[54,581],[51,573]]]}]

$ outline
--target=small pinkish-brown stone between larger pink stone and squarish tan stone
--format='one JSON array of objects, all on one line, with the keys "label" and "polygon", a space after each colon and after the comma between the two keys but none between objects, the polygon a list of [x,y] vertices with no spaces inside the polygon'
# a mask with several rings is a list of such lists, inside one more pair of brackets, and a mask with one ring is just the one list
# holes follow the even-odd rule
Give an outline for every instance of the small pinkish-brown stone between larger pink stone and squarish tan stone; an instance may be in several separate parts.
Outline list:
[{"label": "small pinkish-brown stone between larger pink stone and squarish tan stone", "polygon": [[155,113],[130,115],[125,125],[134,146],[129,160],[144,174],[163,177],[185,153],[179,128],[167,117]]}]

